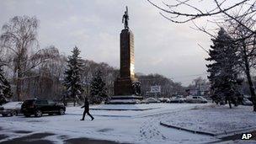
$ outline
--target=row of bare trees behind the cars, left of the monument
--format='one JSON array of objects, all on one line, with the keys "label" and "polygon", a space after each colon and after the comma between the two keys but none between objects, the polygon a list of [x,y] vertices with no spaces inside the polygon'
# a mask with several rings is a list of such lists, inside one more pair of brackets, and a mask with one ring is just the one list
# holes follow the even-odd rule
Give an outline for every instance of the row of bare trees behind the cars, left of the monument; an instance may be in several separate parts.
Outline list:
[{"label": "row of bare trees behind the cars, left of the monument", "polygon": [[[12,99],[16,100],[59,100],[66,95],[80,95],[81,98],[82,93],[89,95],[88,85],[99,70],[106,73],[103,76],[106,93],[113,93],[111,88],[114,88],[118,71],[104,62],[96,63],[83,59],[79,60],[79,79],[83,88],[80,88],[79,94],[67,93],[67,83],[63,84],[69,73],[67,67],[72,69],[76,65],[72,63],[71,56],[61,54],[54,45],[40,48],[37,40],[38,27],[39,20],[29,16],[15,16],[3,25],[0,37],[1,99],[11,98],[12,92]],[[77,51],[76,48],[73,52]]]}]

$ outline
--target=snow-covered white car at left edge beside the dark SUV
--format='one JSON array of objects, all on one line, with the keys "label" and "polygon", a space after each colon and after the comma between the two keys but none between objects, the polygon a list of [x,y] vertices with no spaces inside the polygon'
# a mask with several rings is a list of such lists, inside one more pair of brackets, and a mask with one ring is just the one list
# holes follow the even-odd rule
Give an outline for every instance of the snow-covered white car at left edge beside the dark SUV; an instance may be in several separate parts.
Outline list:
[{"label": "snow-covered white car at left edge beside the dark SUV", "polygon": [[0,106],[0,114],[3,116],[19,115],[22,104],[23,102],[8,102],[7,104],[3,104]]}]

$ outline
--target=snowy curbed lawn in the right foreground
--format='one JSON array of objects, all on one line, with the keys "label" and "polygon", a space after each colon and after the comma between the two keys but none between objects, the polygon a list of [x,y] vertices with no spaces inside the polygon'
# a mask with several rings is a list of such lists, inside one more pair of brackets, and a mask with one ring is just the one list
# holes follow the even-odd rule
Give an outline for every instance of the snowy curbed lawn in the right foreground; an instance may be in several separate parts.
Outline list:
[{"label": "snowy curbed lawn in the right foreground", "polygon": [[256,130],[256,113],[251,106],[228,106],[216,104],[173,112],[162,120],[164,124],[175,125],[191,131],[205,131],[223,135],[244,130]]}]

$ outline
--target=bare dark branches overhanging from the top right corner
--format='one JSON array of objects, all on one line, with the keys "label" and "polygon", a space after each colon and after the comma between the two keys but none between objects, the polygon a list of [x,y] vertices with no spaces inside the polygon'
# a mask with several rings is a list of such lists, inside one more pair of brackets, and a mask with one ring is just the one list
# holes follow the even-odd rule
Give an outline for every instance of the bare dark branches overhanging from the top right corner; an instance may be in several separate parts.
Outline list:
[{"label": "bare dark branches overhanging from the top right corner", "polygon": [[[256,2],[254,0],[239,0],[238,2],[231,0],[211,0],[210,2],[205,0],[174,0],[162,4],[153,3],[152,0],[147,1],[160,9],[160,14],[173,23],[180,24],[204,17],[226,16],[227,19],[235,20],[252,34],[255,34],[255,29],[250,29],[239,21],[239,18],[244,15],[255,19]],[[214,3],[214,6],[204,8],[205,3]],[[238,14],[234,15],[235,12]]]}]

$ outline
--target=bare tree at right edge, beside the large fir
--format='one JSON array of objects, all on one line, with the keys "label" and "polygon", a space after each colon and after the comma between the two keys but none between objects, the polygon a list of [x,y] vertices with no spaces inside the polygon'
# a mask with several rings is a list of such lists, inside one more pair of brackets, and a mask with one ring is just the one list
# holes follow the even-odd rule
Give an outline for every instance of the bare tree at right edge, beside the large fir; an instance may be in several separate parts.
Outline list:
[{"label": "bare tree at right edge, beside the large fir", "polygon": [[[256,21],[248,18],[246,15],[239,18],[248,29],[253,29]],[[251,35],[251,31],[245,29],[245,27],[235,20],[229,20],[227,24],[229,34],[234,40],[237,46],[237,55],[239,56],[239,67],[247,77],[248,88],[252,96],[253,111],[256,111],[256,93],[253,86],[252,71],[256,65],[256,35]]]}]

